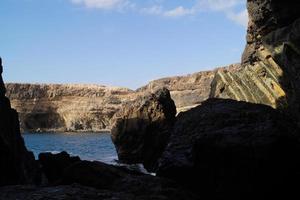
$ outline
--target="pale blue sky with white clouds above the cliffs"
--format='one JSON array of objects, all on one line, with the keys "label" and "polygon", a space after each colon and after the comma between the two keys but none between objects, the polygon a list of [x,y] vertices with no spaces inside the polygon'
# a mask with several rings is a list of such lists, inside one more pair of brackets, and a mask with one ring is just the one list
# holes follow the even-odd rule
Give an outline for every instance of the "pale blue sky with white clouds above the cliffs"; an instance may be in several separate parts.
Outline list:
[{"label": "pale blue sky with white clouds above the cliffs", "polygon": [[6,82],[148,81],[240,61],[245,0],[1,0]]}]

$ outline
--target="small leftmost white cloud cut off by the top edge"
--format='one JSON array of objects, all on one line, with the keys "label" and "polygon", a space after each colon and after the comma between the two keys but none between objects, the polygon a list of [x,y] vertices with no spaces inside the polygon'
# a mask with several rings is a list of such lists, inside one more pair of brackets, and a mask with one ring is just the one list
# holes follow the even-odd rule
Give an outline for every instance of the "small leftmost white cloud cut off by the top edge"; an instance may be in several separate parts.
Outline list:
[{"label": "small leftmost white cloud cut off by the top edge", "polygon": [[115,9],[123,8],[129,5],[127,0],[71,0],[72,3],[82,4],[88,8]]}]

